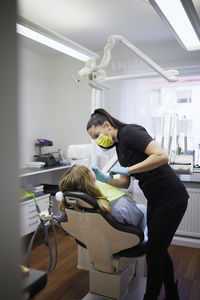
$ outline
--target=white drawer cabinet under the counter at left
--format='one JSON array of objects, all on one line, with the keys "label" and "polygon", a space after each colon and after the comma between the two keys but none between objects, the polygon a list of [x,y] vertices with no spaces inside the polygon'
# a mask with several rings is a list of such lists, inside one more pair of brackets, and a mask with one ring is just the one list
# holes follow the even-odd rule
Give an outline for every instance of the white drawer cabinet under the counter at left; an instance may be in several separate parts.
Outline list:
[{"label": "white drawer cabinet under the counter at left", "polygon": [[[36,200],[41,210],[48,209],[50,194],[37,197]],[[20,203],[20,236],[24,236],[36,230],[40,223],[35,202],[33,199],[26,200]]]}]

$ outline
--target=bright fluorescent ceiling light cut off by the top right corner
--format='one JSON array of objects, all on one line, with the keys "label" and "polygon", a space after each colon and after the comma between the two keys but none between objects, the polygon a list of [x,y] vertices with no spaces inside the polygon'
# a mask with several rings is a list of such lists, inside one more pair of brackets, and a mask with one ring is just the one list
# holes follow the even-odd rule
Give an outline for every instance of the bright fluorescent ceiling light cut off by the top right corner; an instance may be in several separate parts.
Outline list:
[{"label": "bright fluorescent ceiling light cut off by the top right corner", "polygon": [[200,50],[200,20],[192,0],[149,0],[188,51]]}]

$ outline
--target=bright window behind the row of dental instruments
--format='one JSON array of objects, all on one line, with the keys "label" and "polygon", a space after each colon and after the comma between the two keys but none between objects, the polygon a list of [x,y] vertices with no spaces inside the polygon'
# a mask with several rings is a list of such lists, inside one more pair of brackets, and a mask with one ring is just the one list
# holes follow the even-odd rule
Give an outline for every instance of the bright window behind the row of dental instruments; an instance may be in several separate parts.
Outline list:
[{"label": "bright window behind the row of dental instruments", "polygon": [[[181,77],[176,83],[163,80],[152,80],[151,95],[151,130],[157,135],[157,142],[161,143],[163,131],[165,136],[164,148],[167,149],[169,140],[170,119],[172,118],[173,143],[172,150],[176,148],[177,126],[180,147],[184,149],[184,136],[187,134],[187,149],[195,151],[195,161],[200,144],[200,77]],[[178,115],[178,122],[175,120]],[[184,116],[187,124],[185,125]],[[161,118],[165,117],[164,130]],[[157,119],[157,120],[156,120]],[[156,121],[155,121],[156,120]],[[177,125],[178,124],[178,125]]]}]

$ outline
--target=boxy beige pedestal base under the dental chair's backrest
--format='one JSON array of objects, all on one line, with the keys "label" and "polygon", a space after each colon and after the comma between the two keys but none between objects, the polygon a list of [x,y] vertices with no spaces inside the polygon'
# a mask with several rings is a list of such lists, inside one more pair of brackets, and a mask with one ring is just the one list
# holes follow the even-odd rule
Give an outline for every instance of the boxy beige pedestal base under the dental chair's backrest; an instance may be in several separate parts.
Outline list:
[{"label": "boxy beige pedestal base under the dental chair's backrest", "polygon": [[113,265],[116,269],[114,273],[95,270],[90,263],[87,249],[78,246],[77,267],[90,272],[90,293],[83,298],[84,300],[143,299],[146,285],[145,256],[113,259]]}]

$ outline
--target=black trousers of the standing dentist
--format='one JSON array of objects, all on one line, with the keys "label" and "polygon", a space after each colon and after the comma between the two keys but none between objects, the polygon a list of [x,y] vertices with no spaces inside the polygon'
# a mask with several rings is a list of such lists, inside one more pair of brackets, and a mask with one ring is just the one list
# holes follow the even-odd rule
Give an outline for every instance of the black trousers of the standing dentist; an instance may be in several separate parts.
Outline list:
[{"label": "black trousers of the standing dentist", "polygon": [[160,214],[156,213],[153,203],[148,203],[146,251],[148,299],[157,299],[163,282],[166,290],[174,283],[173,263],[167,249],[186,211],[187,202],[188,200],[182,201],[176,209]]}]

